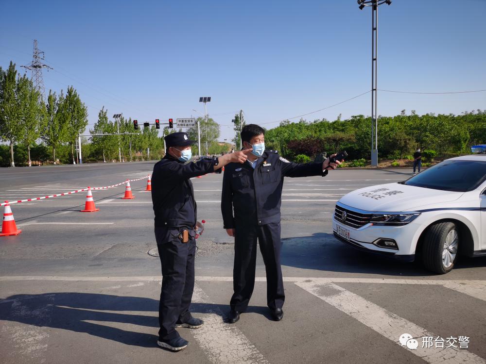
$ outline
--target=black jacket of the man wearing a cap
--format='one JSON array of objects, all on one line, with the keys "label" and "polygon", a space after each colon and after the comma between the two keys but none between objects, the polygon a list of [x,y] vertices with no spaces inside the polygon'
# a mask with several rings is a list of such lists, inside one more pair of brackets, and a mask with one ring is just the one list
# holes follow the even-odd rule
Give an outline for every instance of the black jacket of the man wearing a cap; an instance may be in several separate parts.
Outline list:
[{"label": "black jacket of the man wearing a cap", "polygon": [[192,177],[214,171],[215,161],[178,161],[169,155],[156,163],[152,173],[152,203],[155,226],[193,228],[197,218]]}]

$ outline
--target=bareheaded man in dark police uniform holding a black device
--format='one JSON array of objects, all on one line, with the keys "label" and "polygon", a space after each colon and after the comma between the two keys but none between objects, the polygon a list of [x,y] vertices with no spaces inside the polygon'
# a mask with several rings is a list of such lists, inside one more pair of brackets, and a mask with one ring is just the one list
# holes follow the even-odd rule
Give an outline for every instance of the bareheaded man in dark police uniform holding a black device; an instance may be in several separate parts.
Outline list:
[{"label": "bareheaded man in dark police uniform holding a black device", "polygon": [[[265,150],[264,129],[255,124],[243,127],[244,148],[252,154],[243,164],[226,166],[223,177],[221,211],[226,232],[235,237],[233,267],[234,294],[230,301],[229,322],[240,319],[255,285],[257,239],[267,276],[267,305],[280,321],[285,300],[280,267],[280,203],[284,177],[326,176],[339,162],[296,164],[280,157],[276,150]],[[234,215],[233,215],[234,213]]]}]

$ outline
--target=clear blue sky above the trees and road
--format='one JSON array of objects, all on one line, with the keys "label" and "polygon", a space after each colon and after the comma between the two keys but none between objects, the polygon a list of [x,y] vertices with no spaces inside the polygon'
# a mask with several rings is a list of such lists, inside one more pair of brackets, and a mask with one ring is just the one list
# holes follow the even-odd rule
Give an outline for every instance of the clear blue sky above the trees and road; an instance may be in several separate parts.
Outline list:
[{"label": "clear blue sky above the trees and road", "polygon": [[[204,113],[233,135],[231,119],[278,120],[371,88],[371,9],[356,0],[0,1],[0,66],[45,51],[46,92],[74,85],[89,126],[102,106],[143,121]],[[393,0],[379,8],[378,88],[486,89],[486,0]],[[23,68],[21,68],[23,70]],[[28,73],[30,75],[30,72]],[[379,93],[378,113],[486,109],[486,92]],[[370,94],[306,116],[370,115]],[[293,119],[293,121],[297,121]],[[273,123],[271,123],[273,122]]]}]

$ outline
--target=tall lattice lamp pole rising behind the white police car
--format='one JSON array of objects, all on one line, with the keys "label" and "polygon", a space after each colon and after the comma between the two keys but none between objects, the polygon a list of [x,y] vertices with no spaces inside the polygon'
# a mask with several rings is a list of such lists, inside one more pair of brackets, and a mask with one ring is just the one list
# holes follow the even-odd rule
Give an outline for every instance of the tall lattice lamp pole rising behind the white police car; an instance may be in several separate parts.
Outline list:
[{"label": "tall lattice lamp pole rising behind the white police car", "polygon": [[391,0],[358,0],[360,10],[371,6],[371,165],[378,166],[378,6]]}]

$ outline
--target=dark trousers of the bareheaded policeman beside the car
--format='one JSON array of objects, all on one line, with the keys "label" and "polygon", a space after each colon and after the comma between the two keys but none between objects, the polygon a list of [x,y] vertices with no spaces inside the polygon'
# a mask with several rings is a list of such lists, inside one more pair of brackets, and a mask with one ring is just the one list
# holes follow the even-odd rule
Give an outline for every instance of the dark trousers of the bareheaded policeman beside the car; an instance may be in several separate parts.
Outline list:
[{"label": "dark trousers of the bareheaded policeman beside the car", "polygon": [[280,222],[255,225],[236,221],[235,262],[233,266],[233,290],[231,309],[244,312],[248,307],[255,286],[257,239],[265,263],[267,276],[267,305],[271,309],[282,308],[285,301],[282,269],[280,267]]}]

